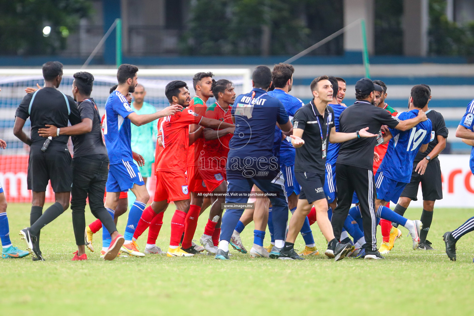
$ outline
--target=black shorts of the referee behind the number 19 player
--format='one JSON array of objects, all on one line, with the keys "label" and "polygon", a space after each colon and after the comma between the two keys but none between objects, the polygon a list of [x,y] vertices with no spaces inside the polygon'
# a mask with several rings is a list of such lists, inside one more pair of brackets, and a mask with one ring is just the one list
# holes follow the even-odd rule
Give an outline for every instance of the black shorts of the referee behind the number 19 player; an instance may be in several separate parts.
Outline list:
[{"label": "black shorts of the referee behind the number 19 player", "polygon": [[426,166],[425,173],[419,175],[415,172],[416,164],[411,172],[410,183],[407,184],[400,197],[412,199],[413,201],[418,200],[418,187],[421,182],[421,192],[423,193],[423,200],[434,201],[443,199],[443,190],[441,183],[441,167],[439,165],[439,159],[436,157],[428,163]]}]

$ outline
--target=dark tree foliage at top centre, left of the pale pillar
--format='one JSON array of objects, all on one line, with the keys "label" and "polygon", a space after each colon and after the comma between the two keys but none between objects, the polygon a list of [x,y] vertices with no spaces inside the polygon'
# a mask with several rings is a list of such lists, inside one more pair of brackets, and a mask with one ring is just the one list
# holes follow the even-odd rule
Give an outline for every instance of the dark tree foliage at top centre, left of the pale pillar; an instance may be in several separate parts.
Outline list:
[{"label": "dark tree foliage at top centre, left of the pale pillar", "polygon": [[182,54],[259,55],[264,27],[269,54],[297,54],[342,27],[342,0],[194,0],[190,13]]}]

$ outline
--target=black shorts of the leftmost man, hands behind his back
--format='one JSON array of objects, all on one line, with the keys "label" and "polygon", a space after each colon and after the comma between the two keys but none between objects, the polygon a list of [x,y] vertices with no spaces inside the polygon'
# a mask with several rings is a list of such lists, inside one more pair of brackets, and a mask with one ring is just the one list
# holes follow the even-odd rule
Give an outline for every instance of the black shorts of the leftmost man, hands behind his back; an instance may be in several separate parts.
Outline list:
[{"label": "black shorts of the leftmost man, hands behind his back", "polygon": [[71,153],[66,144],[50,144],[46,152],[43,144],[30,146],[28,159],[28,190],[45,192],[49,180],[55,192],[70,192],[73,184]]}]

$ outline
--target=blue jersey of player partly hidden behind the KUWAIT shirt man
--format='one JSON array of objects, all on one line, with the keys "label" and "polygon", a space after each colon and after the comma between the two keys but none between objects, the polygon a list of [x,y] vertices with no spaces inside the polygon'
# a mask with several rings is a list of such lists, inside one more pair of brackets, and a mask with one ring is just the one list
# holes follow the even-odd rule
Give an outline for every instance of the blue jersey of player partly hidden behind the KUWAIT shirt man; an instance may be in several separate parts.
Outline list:
[{"label": "blue jersey of player partly hidden behind the KUWAIT shirt man", "polygon": [[[283,103],[290,120],[293,120],[296,111],[304,105],[303,101],[281,89],[269,91],[268,95],[279,99]],[[295,163],[295,148],[292,145],[291,137],[286,136],[283,140],[282,137],[282,130],[275,126],[273,153],[276,154],[276,157],[279,157],[280,164],[291,166]]]}]

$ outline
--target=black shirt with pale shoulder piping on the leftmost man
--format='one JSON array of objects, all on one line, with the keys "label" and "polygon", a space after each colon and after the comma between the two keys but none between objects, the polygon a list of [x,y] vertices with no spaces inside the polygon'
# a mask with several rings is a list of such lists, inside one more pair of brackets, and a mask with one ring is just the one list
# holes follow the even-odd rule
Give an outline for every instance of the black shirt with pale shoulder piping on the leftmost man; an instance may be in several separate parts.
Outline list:
[{"label": "black shirt with pale shoulder piping on the leftmost man", "polygon": [[[20,117],[24,120],[28,117],[30,118],[31,142],[41,144],[45,142],[46,138],[38,134],[38,129],[46,127],[46,124],[66,127],[68,121],[71,122],[72,125],[81,122],[79,110],[77,109],[74,99],[64,95],[55,88],[42,88],[35,93],[28,93],[21,100],[15,112],[15,117]],[[65,144],[68,139],[68,135],[53,137],[51,144]]]}]

